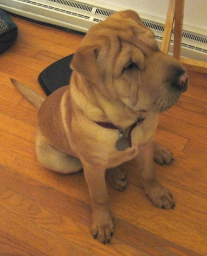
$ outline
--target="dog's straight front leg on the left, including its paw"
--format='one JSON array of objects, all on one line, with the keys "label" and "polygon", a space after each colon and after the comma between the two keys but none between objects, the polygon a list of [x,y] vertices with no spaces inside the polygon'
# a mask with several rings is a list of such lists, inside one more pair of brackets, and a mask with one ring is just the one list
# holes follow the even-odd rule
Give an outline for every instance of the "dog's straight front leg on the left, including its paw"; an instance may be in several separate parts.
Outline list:
[{"label": "dog's straight front leg on the left, including its paw", "polygon": [[114,224],[108,205],[105,169],[88,163],[83,166],[92,205],[91,235],[101,243],[110,243]]}]

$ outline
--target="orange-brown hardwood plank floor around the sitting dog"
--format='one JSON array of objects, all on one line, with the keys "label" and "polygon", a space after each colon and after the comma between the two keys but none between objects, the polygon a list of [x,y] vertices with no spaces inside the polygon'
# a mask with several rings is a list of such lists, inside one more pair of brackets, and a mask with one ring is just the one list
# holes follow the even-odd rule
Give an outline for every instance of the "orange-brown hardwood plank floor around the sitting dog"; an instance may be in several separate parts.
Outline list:
[{"label": "orange-brown hardwood plank floor around the sitting dog", "polygon": [[0,55],[0,256],[207,255],[207,75],[189,73],[179,102],[160,115],[156,140],[175,162],[156,165],[175,197],[174,210],[156,209],[140,188],[133,163],[129,187],[109,187],[116,232],[110,245],[89,234],[91,206],[83,172],[59,175],[35,155],[37,110],[13,87],[22,81],[44,95],[37,77],[72,54],[81,35],[12,17],[16,43]]}]

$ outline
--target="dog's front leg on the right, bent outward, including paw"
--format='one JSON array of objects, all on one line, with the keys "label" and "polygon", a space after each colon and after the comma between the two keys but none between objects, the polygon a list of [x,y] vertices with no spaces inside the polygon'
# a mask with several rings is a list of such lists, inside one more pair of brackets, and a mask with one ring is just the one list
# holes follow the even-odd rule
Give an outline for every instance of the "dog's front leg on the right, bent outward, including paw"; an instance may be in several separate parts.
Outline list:
[{"label": "dog's front leg on the right, bent outward, including paw", "polygon": [[141,171],[142,184],[151,202],[158,208],[174,209],[175,202],[168,189],[162,187],[156,179],[154,166],[154,144],[145,143],[139,149],[137,156],[138,168]]}]

